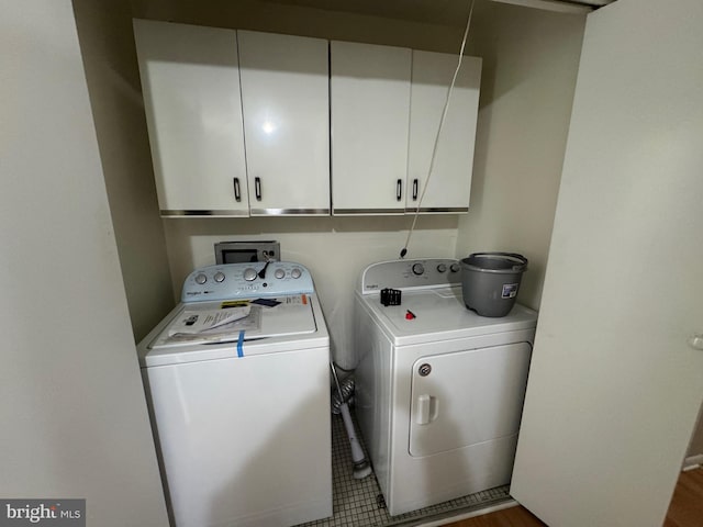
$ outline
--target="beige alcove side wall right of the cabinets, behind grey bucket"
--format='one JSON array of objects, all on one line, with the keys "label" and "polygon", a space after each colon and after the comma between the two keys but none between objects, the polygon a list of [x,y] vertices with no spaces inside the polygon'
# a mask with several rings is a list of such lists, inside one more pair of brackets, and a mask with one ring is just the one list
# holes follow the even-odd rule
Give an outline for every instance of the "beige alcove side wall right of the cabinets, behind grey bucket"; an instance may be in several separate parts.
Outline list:
[{"label": "beige alcove side wall right of the cabinets, behind grey bucket", "polygon": [[456,256],[525,255],[518,301],[539,309],[584,18],[481,3],[470,52],[483,57],[471,208]]}]

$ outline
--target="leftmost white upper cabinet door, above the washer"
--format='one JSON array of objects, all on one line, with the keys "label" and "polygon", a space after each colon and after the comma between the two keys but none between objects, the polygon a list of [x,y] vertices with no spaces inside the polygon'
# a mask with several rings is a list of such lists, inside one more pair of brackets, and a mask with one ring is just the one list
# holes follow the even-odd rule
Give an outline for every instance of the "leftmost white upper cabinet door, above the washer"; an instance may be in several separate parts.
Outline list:
[{"label": "leftmost white upper cabinet door, above the washer", "polygon": [[134,21],[164,216],[248,215],[234,30]]}]

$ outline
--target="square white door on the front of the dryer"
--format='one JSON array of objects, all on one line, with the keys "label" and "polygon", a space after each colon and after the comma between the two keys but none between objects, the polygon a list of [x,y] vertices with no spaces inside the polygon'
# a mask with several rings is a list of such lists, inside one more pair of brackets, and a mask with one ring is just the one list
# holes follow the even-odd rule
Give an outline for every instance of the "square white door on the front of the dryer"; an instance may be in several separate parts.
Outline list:
[{"label": "square white door on the front of the dryer", "polygon": [[532,346],[423,357],[413,365],[410,453],[429,456],[516,435]]}]

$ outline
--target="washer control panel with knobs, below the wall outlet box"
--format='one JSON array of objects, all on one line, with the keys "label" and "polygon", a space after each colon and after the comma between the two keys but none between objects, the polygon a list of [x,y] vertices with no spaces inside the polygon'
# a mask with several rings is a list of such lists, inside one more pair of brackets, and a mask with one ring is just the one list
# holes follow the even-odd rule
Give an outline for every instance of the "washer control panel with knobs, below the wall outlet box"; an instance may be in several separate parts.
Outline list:
[{"label": "washer control panel with knobs, below the wall outlet box", "polygon": [[201,267],[183,282],[181,302],[314,293],[310,271],[293,261],[254,261]]}]

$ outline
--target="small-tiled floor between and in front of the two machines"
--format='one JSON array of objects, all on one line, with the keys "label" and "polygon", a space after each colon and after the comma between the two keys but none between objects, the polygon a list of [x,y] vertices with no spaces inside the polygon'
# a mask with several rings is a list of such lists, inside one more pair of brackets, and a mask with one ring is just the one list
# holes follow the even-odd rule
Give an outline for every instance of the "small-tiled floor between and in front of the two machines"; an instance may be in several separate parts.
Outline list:
[{"label": "small-tiled floor between and in front of the two machines", "polygon": [[352,451],[341,415],[332,416],[332,478],[334,516],[302,524],[300,527],[405,527],[448,518],[510,500],[509,487],[505,485],[390,516],[376,476],[371,474],[364,480],[352,476]]}]

